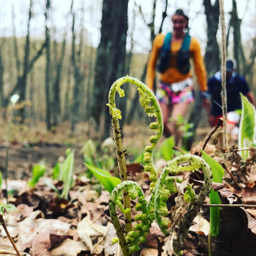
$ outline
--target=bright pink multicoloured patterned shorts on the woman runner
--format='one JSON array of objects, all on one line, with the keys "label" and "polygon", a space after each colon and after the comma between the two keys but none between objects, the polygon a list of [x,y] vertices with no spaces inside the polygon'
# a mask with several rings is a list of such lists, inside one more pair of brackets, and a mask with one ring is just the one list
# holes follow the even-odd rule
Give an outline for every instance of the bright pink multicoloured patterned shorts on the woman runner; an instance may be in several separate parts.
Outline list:
[{"label": "bright pink multicoloured patterned shorts on the woman runner", "polygon": [[190,103],[194,101],[194,91],[192,86],[186,87],[183,91],[179,91],[178,93],[174,93],[170,84],[163,82],[160,82],[158,85],[155,96],[159,102],[167,105],[174,105],[180,102]]}]

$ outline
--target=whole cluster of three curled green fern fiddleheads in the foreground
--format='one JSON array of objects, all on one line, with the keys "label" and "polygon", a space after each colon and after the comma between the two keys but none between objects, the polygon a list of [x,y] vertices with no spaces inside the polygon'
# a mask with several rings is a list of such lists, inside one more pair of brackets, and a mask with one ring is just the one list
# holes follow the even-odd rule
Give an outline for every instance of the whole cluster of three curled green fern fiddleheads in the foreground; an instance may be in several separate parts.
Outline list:
[{"label": "whole cluster of three curled green fern fiddleheads in the foreground", "polygon": [[[124,83],[133,83],[138,87],[138,93],[140,94],[140,104],[145,108],[145,112],[148,116],[155,117],[156,122],[150,124],[150,129],[155,130],[157,133],[150,137],[151,145],[145,147],[144,154],[144,169],[150,172],[150,193],[151,198],[147,202],[145,201],[144,194],[137,183],[127,181],[127,170],[125,163],[125,154],[122,147],[122,139],[120,134],[120,127],[118,119],[121,119],[121,112],[116,108],[115,105],[115,94],[118,91],[119,96],[125,96],[125,91],[120,88]],[[200,211],[201,205],[207,196],[210,186],[211,186],[211,169],[207,163],[200,157],[194,155],[183,155],[181,157],[175,158],[168,163],[168,165],[163,169],[162,174],[158,180],[157,169],[152,161],[152,153],[155,146],[157,145],[159,139],[163,132],[163,120],[162,113],[155,97],[154,93],[147,86],[145,86],[141,81],[134,79],[133,77],[122,77],[113,83],[111,90],[109,91],[109,112],[112,119],[112,130],[113,139],[115,141],[116,157],[118,159],[119,173],[122,183],[118,184],[112,191],[111,199],[109,201],[109,212],[115,226],[116,233],[118,234],[118,239],[120,246],[122,247],[123,256],[128,256],[134,251],[139,249],[138,244],[146,240],[145,236],[149,232],[150,225],[154,219],[157,220],[158,225],[161,227],[163,233],[168,233],[169,221],[164,217],[168,214],[168,209],[166,208],[166,200],[170,193],[175,192],[174,182],[182,182],[181,179],[177,177],[167,177],[168,173],[175,175],[182,170],[194,171],[201,168],[204,172],[205,182],[202,190],[198,197],[194,200],[195,194],[191,185],[187,185],[187,198],[191,201],[189,211],[183,218],[182,225],[180,227],[180,236],[177,239],[175,245],[175,251],[179,252],[182,247],[184,237],[186,236],[193,219]],[[189,165],[184,166],[182,162],[189,162]],[[121,202],[122,198],[120,193],[123,193],[123,204]],[[134,225],[134,230],[131,230],[131,211],[130,211],[130,197],[132,199],[138,196],[138,204],[136,205],[136,211],[142,211],[141,214],[137,214],[134,220],[140,223]],[[125,230],[123,230],[120,225],[118,216],[116,214],[116,207],[119,207],[124,215]],[[173,229],[172,229],[173,230]],[[126,235],[125,235],[126,233]]]}]

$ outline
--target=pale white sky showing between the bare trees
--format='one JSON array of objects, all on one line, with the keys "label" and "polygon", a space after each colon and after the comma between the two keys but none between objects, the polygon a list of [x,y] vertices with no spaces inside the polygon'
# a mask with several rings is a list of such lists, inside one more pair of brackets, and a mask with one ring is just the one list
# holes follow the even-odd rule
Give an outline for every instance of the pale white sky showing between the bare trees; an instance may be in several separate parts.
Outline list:
[{"label": "pale white sky showing between the bare trees", "polygon": [[[118,0],[116,0],[118,1]],[[136,1],[137,5],[141,5],[145,20],[150,22],[152,12],[152,0],[130,0],[129,1],[129,32],[131,34],[132,27],[134,26],[134,37],[136,42],[136,52],[148,51],[150,45],[150,30],[147,25],[141,19],[140,13],[134,5]],[[15,27],[16,35],[26,35],[27,16],[29,9],[30,0],[0,0],[0,34],[1,37],[12,36],[12,6],[15,10]],[[67,17],[67,13],[70,9],[70,0],[51,0],[52,2],[52,15],[51,15],[51,26],[56,26],[56,37],[59,41],[62,41],[63,34],[67,24],[71,24],[70,17]],[[167,33],[172,27],[170,17],[176,8],[189,8],[190,16],[190,34],[197,37],[202,44],[202,48],[206,44],[206,33],[207,24],[205,21],[204,7],[202,0],[169,0],[168,6],[168,17],[166,17],[165,23],[163,24],[163,33]],[[190,5],[189,3],[190,2]],[[214,2],[214,1],[212,1]],[[157,2],[157,15],[156,15],[156,29],[161,23],[162,11],[164,8],[165,0],[159,0]],[[228,12],[232,8],[232,0],[225,0],[225,12],[226,23],[228,22]],[[45,0],[34,0],[33,8],[33,19],[31,20],[31,35],[37,38],[44,37],[44,9]],[[74,10],[78,13],[77,16],[77,29],[79,29],[79,23],[81,22],[81,6],[84,9],[83,24],[86,28],[87,43],[97,47],[100,40],[100,26],[101,26],[101,8],[102,0],[74,0]],[[247,38],[254,37],[255,31],[255,17],[256,17],[256,1],[255,0],[237,0],[237,7],[239,17],[243,17],[242,22],[242,40],[246,41]],[[133,12],[136,12],[134,16]],[[135,25],[133,24],[135,22]],[[70,28],[71,29],[71,28]],[[69,29],[69,31],[70,31]],[[143,33],[141,33],[143,31]],[[221,33],[218,34],[221,37]],[[219,39],[220,40],[220,39]],[[130,42],[129,37],[127,38],[127,47],[129,48]]]}]

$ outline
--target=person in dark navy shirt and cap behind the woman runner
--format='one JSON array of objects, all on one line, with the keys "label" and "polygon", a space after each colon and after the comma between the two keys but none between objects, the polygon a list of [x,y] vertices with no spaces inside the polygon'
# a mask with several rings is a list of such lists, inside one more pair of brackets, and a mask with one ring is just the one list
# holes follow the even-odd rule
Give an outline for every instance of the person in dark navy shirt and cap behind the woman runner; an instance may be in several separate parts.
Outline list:
[{"label": "person in dark navy shirt and cap behind the woman runner", "polygon": [[[211,95],[211,114],[208,116],[209,125],[216,125],[218,119],[222,117],[221,99],[221,71],[208,79],[208,92]],[[239,123],[239,116],[234,111],[241,109],[242,93],[251,104],[255,105],[253,93],[243,76],[236,73],[236,60],[227,58],[226,61],[226,94],[227,94],[227,122]],[[229,120],[229,116],[230,119]],[[238,120],[237,120],[238,119]]]}]

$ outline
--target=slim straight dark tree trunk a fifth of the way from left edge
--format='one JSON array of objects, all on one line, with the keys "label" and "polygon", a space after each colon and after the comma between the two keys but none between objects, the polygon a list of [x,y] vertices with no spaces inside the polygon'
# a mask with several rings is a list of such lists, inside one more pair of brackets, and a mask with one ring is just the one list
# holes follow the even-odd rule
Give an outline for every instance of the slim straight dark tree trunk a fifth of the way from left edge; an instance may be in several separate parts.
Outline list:
[{"label": "slim straight dark tree trunk a fifth of the way from left edge", "polygon": [[51,98],[50,98],[50,79],[51,79],[51,42],[49,34],[49,9],[51,7],[50,0],[46,0],[45,9],[45,48],[46,48],[46,66],[45,66],[45,101],[46,101],[46,113],[45,123],[47,130],[51,130]]}]

